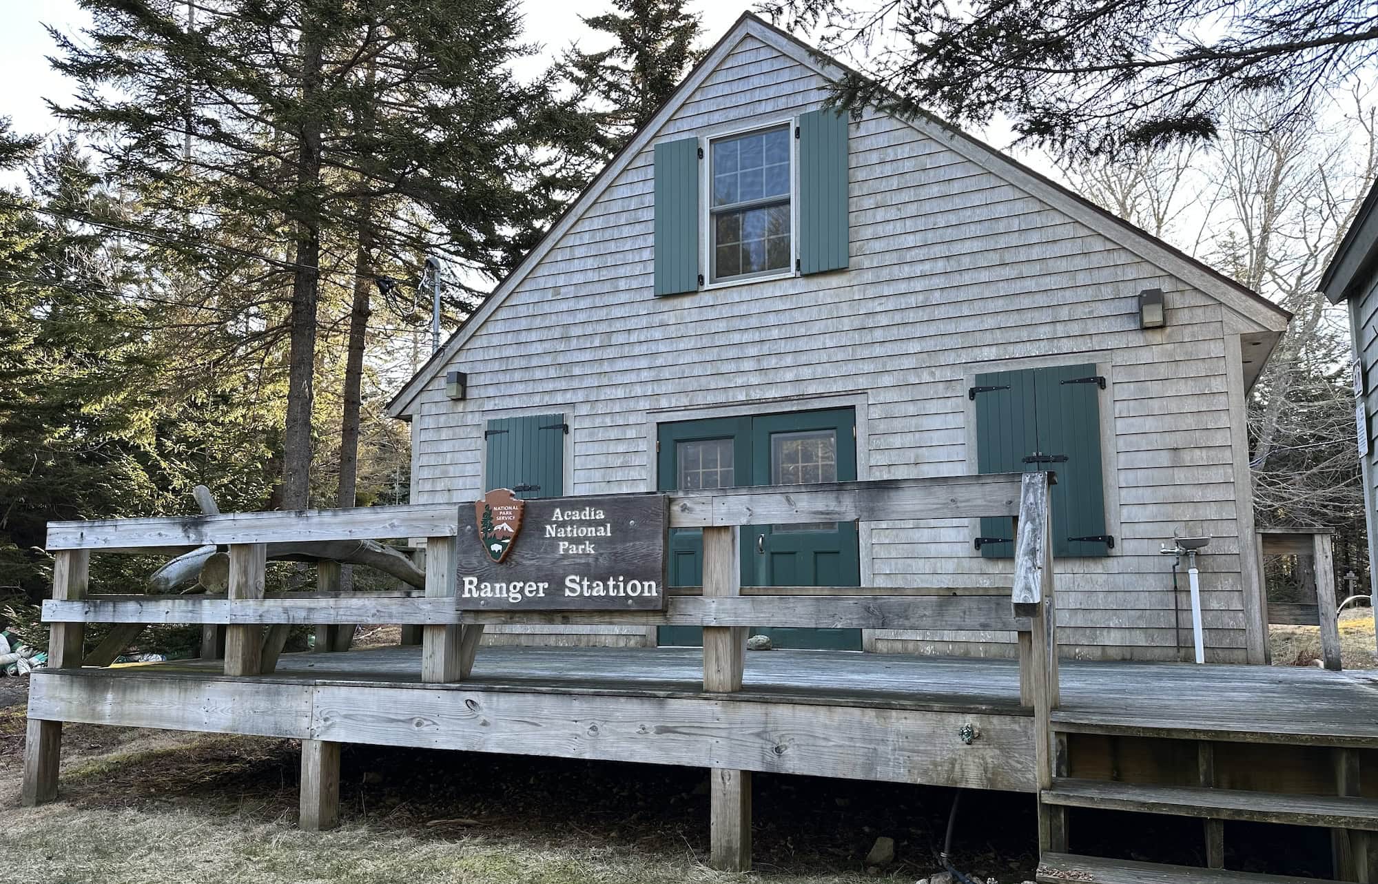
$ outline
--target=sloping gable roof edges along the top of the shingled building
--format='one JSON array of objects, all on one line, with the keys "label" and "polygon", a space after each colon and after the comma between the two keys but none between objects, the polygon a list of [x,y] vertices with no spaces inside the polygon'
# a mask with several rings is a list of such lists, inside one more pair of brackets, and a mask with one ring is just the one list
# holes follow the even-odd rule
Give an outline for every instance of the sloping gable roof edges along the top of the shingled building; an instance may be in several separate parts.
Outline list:
[{"label": "sloping gable roof edges along the top of the shingled building", "polygon": [[[497,308],[513,289],[529,274],[540,260],[555,246],[559,238],[583,216],[602,190],[639,154],[656,136],[660,128],[675,114],[679,106],[693,94],[695,90],[708,77],[722,59],[745,37],[755,37],[762,43],[776,48],[783,55],[814,70],[827,80],[836,80],[843,74],[853,73],[836,59],[819,52],[762,18],[743,12],[741,17],[728,29],[728,32],[704,54],[689,74],[679,83],[678,88],[638,129],[627,145],[615,156],[608,165],[584,187],[569,207],[559,215],[550,230],[540,238],[531,252],[508,273],[484,299],[484,302],[455,329],[446,341],[431,354],[430,359],[412,376],[407,384],[387,403],[387,412],[393,417],[408,417],[408,408],[424,390],[444,365],[459,351],[480,325]],[[1163,242],[1145,230],[1135,227],[1122,218],[1096,205],[1086,197],[1076,194],[1053,179],[1035,172],[1029,167],[1013,160],[985,142],[967,135],[956,127],[927,113],[912,120],[904,120],[923,135],[955,150],[965,158],[985,168],[988,172],[1020,186],[1029,194],[1043,200],[1049,205],[1061,209],[1068,216],[1082,222],[1096,233],[1105,235],[1116,244],[1137,253],[1144,260],[1153,263],[1184,282],[1211,295],[1222,304],[1233,310],[1247,322],[1255,325],[1261,332],[1282,333],[1291,319],[1291,314],[1257,292],[1235,282],[1225,274],[1214,270],[1203,262],[1185,252]]]}]

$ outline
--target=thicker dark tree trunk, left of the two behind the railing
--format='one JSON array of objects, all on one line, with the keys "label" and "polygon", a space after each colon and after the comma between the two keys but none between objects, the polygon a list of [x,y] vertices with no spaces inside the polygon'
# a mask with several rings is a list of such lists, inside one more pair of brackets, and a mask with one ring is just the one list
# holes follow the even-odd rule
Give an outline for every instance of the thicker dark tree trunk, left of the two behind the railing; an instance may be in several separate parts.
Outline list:
[{"label": "thicker dark tree trunk, left of the two behind the railing", "polygon": [[321,88],[321,33],[307,14],[302,25],[303,120],[296,151],[296,270],[292,274],[287,425],[282,434],[282,508],[310,503],[311,405],[316,390],[316,313],[321,256],[321,121],[311,101]]}]

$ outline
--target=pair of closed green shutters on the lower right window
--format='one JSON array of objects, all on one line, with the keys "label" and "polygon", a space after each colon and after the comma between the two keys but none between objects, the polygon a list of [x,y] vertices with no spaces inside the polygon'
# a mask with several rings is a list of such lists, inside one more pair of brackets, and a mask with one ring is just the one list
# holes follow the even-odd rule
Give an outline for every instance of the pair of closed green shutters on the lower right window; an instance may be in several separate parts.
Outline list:
[{"label": "pair of closed green shutters on the lower right window", "polygon": [[[1051,494],[1054,556],[1109,552],[1104,541],[1071,540],[1105,536],[1101,388],[1094,379],[1094,365],[976,376],[976,390],[996,387],[974,394],[977,470],[1057,474]],[[1024,463],[1038,454],[1067,460]],[[981,519],[981,537],[1013,537],[1010,520]],[[1013,549],[1013,544],[983,544],[981,556],[1006,559]]]}]

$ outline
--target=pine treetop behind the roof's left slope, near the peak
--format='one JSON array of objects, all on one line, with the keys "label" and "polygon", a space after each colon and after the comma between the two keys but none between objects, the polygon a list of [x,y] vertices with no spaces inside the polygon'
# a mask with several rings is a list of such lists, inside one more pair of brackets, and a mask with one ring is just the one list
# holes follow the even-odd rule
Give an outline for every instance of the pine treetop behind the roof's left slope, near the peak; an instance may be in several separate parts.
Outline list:
[{"label": "pine treetop behind the roof's left slope, near the peak", "polygon": [[599,52],[572,47],[564,59],[570,83],[593,105],[598,127],[591,147],[608,160],[670,99],[679,80],[701,56],[697,14],[683,0],[613,0],[612,11],[583,18],[616,43]]}]

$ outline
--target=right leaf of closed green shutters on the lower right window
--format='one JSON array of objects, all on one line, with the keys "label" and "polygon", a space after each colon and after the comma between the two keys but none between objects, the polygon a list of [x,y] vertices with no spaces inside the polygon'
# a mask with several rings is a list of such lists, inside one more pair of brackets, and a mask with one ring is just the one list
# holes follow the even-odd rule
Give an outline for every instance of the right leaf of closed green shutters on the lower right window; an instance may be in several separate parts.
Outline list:
[{"label": "right leaf of closed green shutters on the lower right window", "polygon": [[[1057,472],[1053,507],[1054,556],[1102,556],[1109,545],[1072,537],[1105,536],[1105,489],[1101,475],[1101,388],[1094,365],[1062,365],[1035,372],[1038,435],[1045,454],[1065,454],[1047,464]],[[1079,381],[1079,383],[1073,383]]]}]

